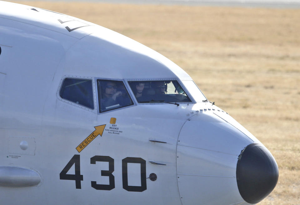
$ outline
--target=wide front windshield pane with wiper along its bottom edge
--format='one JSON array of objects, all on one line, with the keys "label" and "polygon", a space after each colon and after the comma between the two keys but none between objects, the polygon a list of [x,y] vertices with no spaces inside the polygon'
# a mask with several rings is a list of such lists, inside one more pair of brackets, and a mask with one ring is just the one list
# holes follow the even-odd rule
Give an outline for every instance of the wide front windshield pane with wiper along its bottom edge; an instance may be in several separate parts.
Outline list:
[{"label": "wide front windshield pane with wiper along its bottom edge", "polygon": [[139,103],[191,102],[177,81],[129,81]]}]

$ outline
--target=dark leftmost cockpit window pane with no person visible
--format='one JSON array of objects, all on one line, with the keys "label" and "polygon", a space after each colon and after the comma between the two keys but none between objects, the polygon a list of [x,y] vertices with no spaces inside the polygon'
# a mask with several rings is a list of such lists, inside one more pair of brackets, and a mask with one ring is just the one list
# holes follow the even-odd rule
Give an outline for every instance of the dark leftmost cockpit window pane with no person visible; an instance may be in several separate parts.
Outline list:
[{"label": "dark leftmost cockpit window pane with no person visible", "polygon": [[59,95],[65,100],[94,109],[92,80],[66,78]]}]

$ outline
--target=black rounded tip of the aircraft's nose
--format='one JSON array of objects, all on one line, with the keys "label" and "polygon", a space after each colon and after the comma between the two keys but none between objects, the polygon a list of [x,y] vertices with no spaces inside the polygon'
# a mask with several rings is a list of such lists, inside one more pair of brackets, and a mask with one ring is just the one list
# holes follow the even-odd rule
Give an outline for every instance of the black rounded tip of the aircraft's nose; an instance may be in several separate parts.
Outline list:
[{"label": "black rounded tip of the aircraft's nose", "polygon": [[237,187],[247,203],[262,201],[277,181],[277,163],[264,146],[254,143],[242,150],[237,161]]}]

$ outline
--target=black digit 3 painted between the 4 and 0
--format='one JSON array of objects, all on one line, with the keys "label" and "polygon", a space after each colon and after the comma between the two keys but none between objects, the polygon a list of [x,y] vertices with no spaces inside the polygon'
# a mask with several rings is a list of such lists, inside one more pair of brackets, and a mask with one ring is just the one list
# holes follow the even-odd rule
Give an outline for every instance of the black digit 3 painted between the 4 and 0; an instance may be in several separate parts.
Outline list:
[{"label": "black digit 3 painted between the 4 and 0", "polygon": [[108,162],[108,171],[101,170],[101,176],[109,177],[109,184],[97,184],[97,182],[92,181],[92,187],[97,190],[112,190],[115,188],[115,177],[113,176],[114,171],[114,160],[109,156],[94,156],[91,158],[91,164],[96,164],[96,162]]}]

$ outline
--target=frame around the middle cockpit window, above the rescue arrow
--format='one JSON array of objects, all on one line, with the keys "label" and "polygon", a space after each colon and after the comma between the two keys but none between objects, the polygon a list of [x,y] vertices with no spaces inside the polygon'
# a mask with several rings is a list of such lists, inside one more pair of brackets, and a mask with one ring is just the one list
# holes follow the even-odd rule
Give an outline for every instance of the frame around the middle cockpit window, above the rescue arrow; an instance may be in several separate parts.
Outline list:
[{"label": "frame around the middle cockpit window, above the rescue arrow", "polygon": [[[130,97],[131,101],[132,101],[132,105],[127,105],[127,106],[124,106],[124,107],[116,107],[114,109],[111,109],[111,110],[105,110],[105,111],[101,111],[100,110],[100,96],[99,96],[99,93],[98,93],[98,80],[103,80],[103,81],[121,81],[123,82],[123,85],[128,93],[128,96]],[[136,99],[134,98],[133,99],[133,96],[132,95],[132,91],[131,91],[131,88],[130,86],[128,85],[127,81],[125,81],[124,79],[116,79],[116,78],[95,78],[95,82],[96,82],[96,96],[97,96],[97,113],[98,114],[102,114],[102,113],[107,113],[107,112],[111,112],[111,111],[116,111],[116,110],[120,110],[120,109],[124,109],[124,108],[128,108],[128,107],[132,107],[132,106],[136,106],[137,103],[136,103]]]}]

